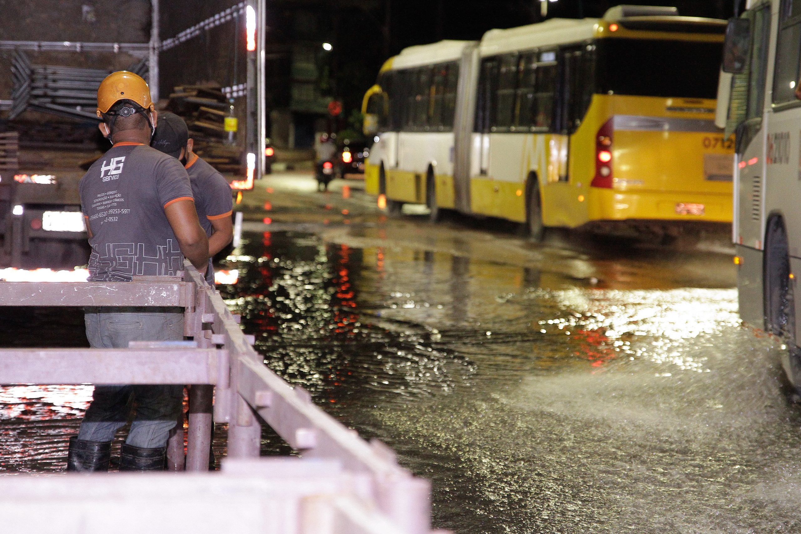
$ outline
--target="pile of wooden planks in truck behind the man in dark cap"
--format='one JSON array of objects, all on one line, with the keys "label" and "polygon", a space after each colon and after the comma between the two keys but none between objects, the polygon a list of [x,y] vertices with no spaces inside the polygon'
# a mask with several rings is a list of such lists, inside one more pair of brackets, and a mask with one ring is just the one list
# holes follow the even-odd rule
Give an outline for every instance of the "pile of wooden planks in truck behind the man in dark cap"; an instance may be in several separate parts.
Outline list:
[{"label": "pile of wooden planks in truck behind the man in dark cap", "polygon": [[187,122],[195,154],[221,172],[238,172],[243,167],[242,150],[227,141],[224,122],[230,106],[217,86],[175,87],[167,102],[167,110]]}]

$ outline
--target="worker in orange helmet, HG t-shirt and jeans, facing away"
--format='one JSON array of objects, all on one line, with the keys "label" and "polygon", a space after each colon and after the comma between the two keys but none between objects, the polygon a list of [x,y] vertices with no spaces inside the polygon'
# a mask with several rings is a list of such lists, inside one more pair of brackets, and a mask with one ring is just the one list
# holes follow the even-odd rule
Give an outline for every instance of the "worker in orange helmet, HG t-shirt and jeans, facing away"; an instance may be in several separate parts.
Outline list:
[{"label": "worker in orange helmet, HG t-shirt and jeans, facing away", "polygon": [[[187,171],[151,148],[157,113],[147,83],[131,72],[109,74],[98,90],[100,131],[112,143],[80,183],[91,245],[90,280],[126,282],[139,275],[177,275],[188,259],[205,272],[206,232],[195,212]],[[181,308],[87,308],[92,347],[131,341],[183,340]],[[111,441],[136,415],[120,454],[121,471],[160,471],[182,409],[183,386],[99,385],[78,436],[70,438],[67,471],[107,471]]]}]

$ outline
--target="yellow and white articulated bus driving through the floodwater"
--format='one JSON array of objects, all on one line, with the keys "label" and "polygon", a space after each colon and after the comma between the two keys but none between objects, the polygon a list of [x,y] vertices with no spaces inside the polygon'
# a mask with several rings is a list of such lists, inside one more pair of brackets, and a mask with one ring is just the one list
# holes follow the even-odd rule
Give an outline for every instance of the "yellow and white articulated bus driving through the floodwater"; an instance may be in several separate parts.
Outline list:
[{"label": "yellow and white articulated bus driving through the floodwater", "polygon": [[714,125],[726,22],[618,6],[601,19],[412,46],[364,95],[368,193],[544,227],[670,237],[731,223]]}]

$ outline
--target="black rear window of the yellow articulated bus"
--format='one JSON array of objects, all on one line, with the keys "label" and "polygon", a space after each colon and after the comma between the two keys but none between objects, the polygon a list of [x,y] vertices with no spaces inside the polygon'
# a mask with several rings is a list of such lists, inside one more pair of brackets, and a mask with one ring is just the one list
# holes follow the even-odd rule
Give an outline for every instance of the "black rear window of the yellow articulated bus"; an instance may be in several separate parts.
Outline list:
[{"label": "black rear window of the yellow articulated bus", "polygon": [[722,42],[600,39],[598,93],[716,98]]}]

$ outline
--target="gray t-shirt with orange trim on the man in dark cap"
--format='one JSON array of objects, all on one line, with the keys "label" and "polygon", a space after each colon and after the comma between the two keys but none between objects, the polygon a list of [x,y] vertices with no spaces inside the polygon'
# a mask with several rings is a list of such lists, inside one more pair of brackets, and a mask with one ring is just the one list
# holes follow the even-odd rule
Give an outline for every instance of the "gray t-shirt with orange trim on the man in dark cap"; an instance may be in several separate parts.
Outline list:
[{"label": "gray t-shirt with orange trim on the man in dark cap", "polygon": [[[214,227],[211,221],[231,217],[234,201],[231,199],[231,186],[223,175],[208,163],[193,154],[187,163],[187,172],[192,184],[192,195],[195,196],[195,210],[198,212],[200,226],[211,237]],[[208,259],[206,281],[214,287],[214,267]]]}]

